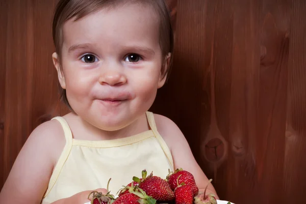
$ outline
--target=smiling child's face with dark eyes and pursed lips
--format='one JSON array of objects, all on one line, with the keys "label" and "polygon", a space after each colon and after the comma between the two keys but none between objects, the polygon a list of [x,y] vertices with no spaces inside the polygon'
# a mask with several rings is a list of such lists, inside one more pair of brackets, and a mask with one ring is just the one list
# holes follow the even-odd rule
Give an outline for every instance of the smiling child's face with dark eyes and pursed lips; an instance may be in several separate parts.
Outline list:
[{"label": "smiling child's face with dark eyes and pursed lips", "polygon": [[63,37],[63,76],[56,67],[78,115],[100,129],[118,130],[149,109],[165,82],[159,19],[151,8],[126,4],[69,20]]}]

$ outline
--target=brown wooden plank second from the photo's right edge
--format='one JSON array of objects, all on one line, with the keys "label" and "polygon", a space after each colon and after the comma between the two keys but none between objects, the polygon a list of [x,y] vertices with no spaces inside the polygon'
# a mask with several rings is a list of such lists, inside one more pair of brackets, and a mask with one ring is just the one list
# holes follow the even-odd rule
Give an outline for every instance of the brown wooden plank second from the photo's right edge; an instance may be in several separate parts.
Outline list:
[{"label": "brown wooden plank second from the photo's right edge", "polygon": [[256,138],[261,203],[284,201],[283,180],[291,1],[263,1]]}]

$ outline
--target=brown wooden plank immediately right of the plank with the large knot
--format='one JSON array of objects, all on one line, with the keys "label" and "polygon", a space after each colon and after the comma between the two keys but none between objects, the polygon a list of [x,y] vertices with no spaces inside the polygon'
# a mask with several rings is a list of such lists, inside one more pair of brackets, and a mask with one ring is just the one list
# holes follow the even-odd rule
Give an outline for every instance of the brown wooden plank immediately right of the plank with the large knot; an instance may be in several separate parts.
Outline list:
[{"label": "brown wooden plank immediately right of the plank with the large knot", "polygon": [[257,0],[234,2],[226,199],[235,203],[258,203],[258,199],[250,198],[260,192],[253,145],[257,138],[260,12]]}]

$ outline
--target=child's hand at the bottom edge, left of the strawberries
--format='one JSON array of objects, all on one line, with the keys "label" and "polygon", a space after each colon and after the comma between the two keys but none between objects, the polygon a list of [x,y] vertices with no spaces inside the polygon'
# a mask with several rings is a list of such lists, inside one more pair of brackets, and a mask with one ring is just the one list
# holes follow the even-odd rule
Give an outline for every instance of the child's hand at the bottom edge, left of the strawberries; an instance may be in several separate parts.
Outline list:
[{"label": "child's hand at the bottom edge, left of the strawberries", "polygon": [[71,197],[63,198],[60,200],[57,200],[53,202],[52,204],[84,204],[86,202],[90,202],[92,199],[92,195],[88,199],[88,195],[92,191],[97,191],[97,192],[102,192],[103,194],[107,193],[107,189],[105,188],[98,188],[96,190],[91,190],[91,191],[82,191],[80,193],[74,194]]}]

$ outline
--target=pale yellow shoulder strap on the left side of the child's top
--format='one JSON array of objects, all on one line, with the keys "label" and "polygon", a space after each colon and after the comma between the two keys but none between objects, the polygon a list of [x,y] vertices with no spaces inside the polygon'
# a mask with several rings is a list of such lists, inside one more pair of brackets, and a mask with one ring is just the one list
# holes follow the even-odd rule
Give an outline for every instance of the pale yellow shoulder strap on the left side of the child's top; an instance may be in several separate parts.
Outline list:
[{"label": "pale yellow shoulder strap on the left side of the child's top", "polygon": [[55,117],[53,118],[52,120],[57,120],[58,122],[60,122],[63,130],[64,130],[64,135],[65,135],[65,138],[66,138],[66,144],[65,144],[65,147],[62,151],[62,154],[61,156],[59,157],[59,160],[53,170],[53,173],[52,173],[52,176],[50,178],[50,181],[49,181],[49,185],[48,185],[48,189],[47,191],[45,192],[44,196],[43,197],[46,197],[50,191],[52,190],[53,186],[55,185],[58,177],[59,177],[59,174],[70,154],[70,151],[71,151],[71,148],[72,148],[72,132],[70,130],[70,127],[68,125],[68,123],[66,122],[66,120],[60,116],[58,117]]}]

